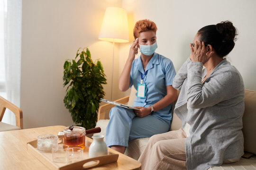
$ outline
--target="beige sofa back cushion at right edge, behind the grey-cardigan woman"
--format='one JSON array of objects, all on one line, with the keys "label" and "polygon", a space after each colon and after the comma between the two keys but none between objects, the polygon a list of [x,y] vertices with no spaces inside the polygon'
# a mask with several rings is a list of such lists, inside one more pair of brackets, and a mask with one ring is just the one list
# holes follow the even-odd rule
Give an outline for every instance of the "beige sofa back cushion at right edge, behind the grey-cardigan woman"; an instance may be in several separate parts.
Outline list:
[{"label": "beige sofa back cushion at right edge, behind the grey-cardigan woman", "polygon": [[256,154],[256,91],[245,90],[244,150]]}]

